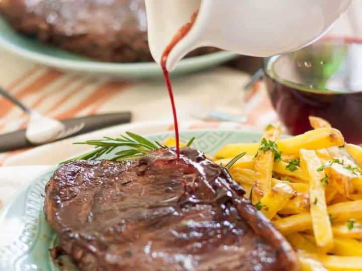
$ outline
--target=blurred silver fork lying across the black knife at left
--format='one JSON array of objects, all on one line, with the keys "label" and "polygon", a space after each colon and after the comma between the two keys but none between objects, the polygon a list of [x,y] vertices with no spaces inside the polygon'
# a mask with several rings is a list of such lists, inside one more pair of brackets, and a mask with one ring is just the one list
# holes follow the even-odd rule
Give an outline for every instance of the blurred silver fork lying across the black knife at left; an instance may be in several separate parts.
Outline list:
[{"label": "blurred silver fork lying across the black knife at left", "polygon": [[81,130],[84,126],[84,123],[81,123],[66,129],[65,125],[59,120],[41,115],[1,87],[0,94],[29,115],[29,124],[26,128],[25,136],[32,144],[39,145],[68,137]]}]

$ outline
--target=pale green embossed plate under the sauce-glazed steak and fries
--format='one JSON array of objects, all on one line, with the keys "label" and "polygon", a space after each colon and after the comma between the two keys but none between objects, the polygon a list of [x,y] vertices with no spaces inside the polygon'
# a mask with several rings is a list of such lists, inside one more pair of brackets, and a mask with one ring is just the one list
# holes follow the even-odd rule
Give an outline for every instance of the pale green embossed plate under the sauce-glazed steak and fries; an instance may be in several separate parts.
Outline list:
[{"label": "pale green embossed plate under the sauce-glazed steak and fries", "polygon": [[[147,138],[162,141],[170,135],[173,135],[173,132],[152,134]],[[240,130],[189,130],[180,134],[180,139],[184,142],[192,137],[196,138],[193,147],[213,155],[227,143],[257,142],[261,133]],[[109,155],[102,159],[107,159]],[[49,248],[54,246],[56,234],[45,221],[43,214],[44,187],[54,170],[55,168],[36,178],[28,189],[0,212],[1,271],[61,270],[50,258]]]}]

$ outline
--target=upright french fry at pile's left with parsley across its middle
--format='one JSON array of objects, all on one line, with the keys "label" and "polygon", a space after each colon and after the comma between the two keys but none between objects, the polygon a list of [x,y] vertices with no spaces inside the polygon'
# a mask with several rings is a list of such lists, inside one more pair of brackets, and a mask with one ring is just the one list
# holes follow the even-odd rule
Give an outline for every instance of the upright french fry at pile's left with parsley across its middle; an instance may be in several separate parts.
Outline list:
[{"label": "upright french fry at pile's left with parsley across its middle", "polygon": [[[267,141],[277,141],[280,135],[280,125],[269,125],[264,134],[263,139]],[[272,186],[272,172],[274,165],[275,153],[273,150],[259,151],[255,158],[254,171],[258,174],[256,187],[266,193]]]}]

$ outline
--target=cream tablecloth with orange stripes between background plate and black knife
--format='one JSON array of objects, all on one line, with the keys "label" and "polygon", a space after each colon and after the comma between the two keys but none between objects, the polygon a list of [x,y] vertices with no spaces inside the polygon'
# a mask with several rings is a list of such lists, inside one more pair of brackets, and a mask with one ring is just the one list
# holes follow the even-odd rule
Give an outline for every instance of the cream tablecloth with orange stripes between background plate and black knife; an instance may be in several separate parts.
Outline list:
[{"label": "cream tablecloth with orange stripes between background plate and black knife", "polygon": [[[137,82],[109,80],[102,77],[62,72],[39,66],[0,49],[0,85],[42,114],[64,119],[103,112],[129,110],[132,122],[170,121],[171,111],[162,79]],[[192,112],[201,107],[228,106],[248,115],[244,125],[264,127],[277,119],[259,82],[245,97],[242,86],[249,75],[226,67],[172,79],[180,123],[195,120]],[[232,101],[232,104],[230,104]],[[228,108],[228,109],[230,109]],[[27,115],[0,98],[0,133],[27,125]],[[215,126],[217,123],[202,123]],[[0,154],[0,165],[17,163],[16,156],[26,150]],[[56,152],[58,150],[54,150]]]}]

